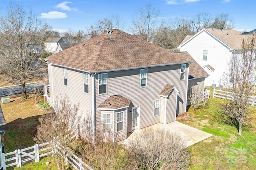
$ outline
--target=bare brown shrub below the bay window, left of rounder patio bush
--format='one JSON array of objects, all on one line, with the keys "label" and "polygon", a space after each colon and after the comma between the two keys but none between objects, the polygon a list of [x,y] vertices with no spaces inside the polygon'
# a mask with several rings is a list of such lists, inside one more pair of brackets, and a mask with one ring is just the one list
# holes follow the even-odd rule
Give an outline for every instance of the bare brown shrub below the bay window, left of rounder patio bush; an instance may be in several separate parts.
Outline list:
[{"label": "bare brown shrub below the bay window, left of rounder patio bush", "polygon": [[136,162],[131,152],[122,147],[120,135],[112,131],[112,127],[104,130],[103,122],[99,122],[92,137],[92,119],[85,119],[83,128],[86,140],[82,141],[82,158],[88,161],[91,167],[99,170],[135,170]]}]

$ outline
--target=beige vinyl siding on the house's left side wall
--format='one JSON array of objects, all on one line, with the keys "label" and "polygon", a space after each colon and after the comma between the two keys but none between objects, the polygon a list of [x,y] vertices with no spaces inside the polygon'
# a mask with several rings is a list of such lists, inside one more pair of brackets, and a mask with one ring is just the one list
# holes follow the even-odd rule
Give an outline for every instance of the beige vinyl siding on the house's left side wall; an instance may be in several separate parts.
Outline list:
[{"label": "beige vinyl siding on the house's left side wall", "polygon": [[[67,80],[68,86],[63,84],[63,70],[62,67],[50,66],[52,67],[53,82],[51,82],[51,77],[49,77],[50,92],[54,92],[55,103],[56,97],[58,98],[66,94],[70,102],[79,104],[79,113],[82,114],[84,118],[86,115],[92,116],[92,79],[89,76],[89,94],[83,91],[83,73],[75,70],[67,69]],[[49,70],[51,70],[49,68]],[[53,100],[52,93],[50,94],[51,100]],[[81,127],[81,126],[80,126]]]}]

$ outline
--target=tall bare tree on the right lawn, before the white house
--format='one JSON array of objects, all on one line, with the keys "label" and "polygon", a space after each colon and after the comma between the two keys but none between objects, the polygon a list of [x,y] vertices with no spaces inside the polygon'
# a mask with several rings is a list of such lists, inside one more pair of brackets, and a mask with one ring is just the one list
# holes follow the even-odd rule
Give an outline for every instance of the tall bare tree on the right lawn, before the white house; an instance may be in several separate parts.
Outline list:
[{"label": "tall bare tree on the right lawn, before the white house", "polygon": [[237,127],[239,135],[242,135],[242,127],[250,115],[249,96],[256,83],[255,41],[255,33],[242,39],[241,50],[233,52],[223,78],[224,87],[230,92],[232,100],[224,102],[222,115]]}]

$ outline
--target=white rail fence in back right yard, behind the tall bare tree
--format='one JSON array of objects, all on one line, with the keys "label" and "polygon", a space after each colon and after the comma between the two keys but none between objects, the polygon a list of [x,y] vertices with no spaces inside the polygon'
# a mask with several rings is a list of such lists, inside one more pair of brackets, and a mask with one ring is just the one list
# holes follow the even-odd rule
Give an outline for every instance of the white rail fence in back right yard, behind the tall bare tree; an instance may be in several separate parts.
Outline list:
[{"label": "white rail fence in back right yard, behind the tall bare tree", "polygon": [[[228,92],[228,91],[224,91],[224,90],[216,90],[215,88],[213,89],[212,98],[222,98],[222,99],[227,99],[227,100],[234,100],[232,92]],[[250,104],[252,106],[256,105],[255,98],[256,98],[256,96],[249,96],[248,104]]]}]

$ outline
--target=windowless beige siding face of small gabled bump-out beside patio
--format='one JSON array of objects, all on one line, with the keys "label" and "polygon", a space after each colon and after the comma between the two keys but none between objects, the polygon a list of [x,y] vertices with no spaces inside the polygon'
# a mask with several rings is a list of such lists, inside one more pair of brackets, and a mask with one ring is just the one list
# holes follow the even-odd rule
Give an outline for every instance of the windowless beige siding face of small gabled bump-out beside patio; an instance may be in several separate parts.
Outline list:
[{"label": "windowless beige siding face of small gabled bump-out beside patio", "polygon": [[176,93],[175,90],[172,90],[169,98],[167,99],[166,124],[175,121],[175,117],[176,117],[176,98],[177,98],[177,93]]}]

